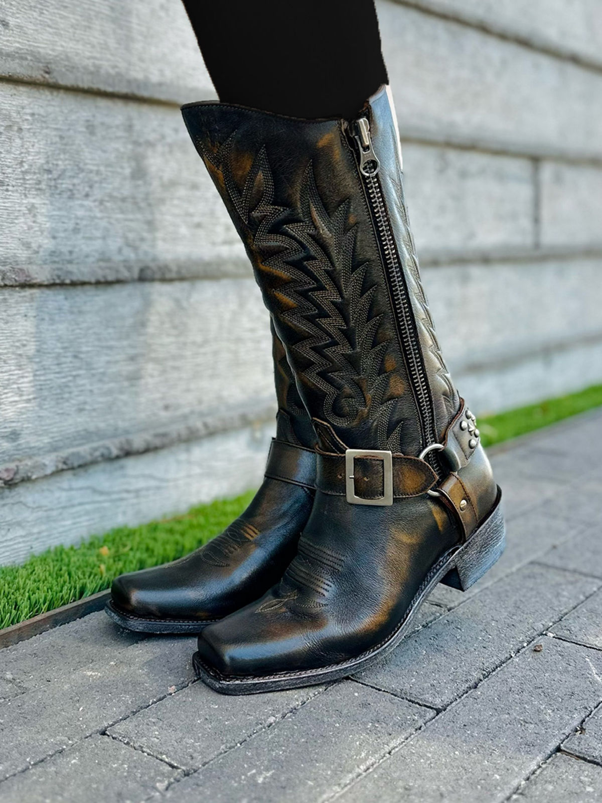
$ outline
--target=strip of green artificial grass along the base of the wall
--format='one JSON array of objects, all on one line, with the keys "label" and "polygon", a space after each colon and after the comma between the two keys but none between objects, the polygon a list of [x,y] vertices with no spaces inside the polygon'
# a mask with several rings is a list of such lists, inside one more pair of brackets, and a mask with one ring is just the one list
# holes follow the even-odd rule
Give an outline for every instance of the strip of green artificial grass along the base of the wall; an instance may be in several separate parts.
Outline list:
[{"label": "strip of green artificial grass along the base of the wall", "polygon": [[[602,385],[480,416],[485,446],[515,438],[563,418],[602,406]],[[221,532],[250,502],[253,492],[199,507],[185,516],[120,527],[76,547],[55,547],[23,565],[0,567],[0,629],[107,589],[114,577],[157,566],[192,552]]]}]

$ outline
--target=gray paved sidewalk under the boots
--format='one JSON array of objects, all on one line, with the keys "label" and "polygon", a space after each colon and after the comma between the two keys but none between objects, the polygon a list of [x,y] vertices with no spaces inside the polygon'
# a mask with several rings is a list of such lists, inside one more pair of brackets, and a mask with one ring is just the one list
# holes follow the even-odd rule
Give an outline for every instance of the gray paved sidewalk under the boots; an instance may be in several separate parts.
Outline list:
[{"label": "gray paved sidewalk under the boots", "polygon": [[0,803],[602,801],[602,414],[497,451],[508,547],[384,664],[225,697],[104,613],[0,650]]}]

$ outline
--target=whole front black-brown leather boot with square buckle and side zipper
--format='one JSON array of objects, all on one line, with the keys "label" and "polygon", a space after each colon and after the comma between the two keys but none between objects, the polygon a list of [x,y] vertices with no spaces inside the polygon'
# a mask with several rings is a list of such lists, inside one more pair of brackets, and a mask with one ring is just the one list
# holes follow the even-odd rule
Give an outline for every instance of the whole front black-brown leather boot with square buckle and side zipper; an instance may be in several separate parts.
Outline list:
[{"label": "whole front black-brown leather boot with square buckle and side zipper", "polygon": [[500,492],[437,344],[387,89],[352,121],[183,114],[318,434],[298,554],[203,631],[194,662],[227,694],[323,683],[393,649],[438,582],[486,572],[504,546]]}]

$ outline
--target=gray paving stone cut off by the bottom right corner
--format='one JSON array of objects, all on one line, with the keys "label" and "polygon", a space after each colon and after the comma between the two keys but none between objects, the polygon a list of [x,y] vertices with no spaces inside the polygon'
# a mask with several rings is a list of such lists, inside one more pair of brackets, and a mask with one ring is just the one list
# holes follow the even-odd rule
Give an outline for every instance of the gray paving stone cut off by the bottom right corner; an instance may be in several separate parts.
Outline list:
[{"label": "gray paving stone cut off by the bottom right corner", "polygon": [[602,803],[602,768],[555,753],[512,800],[516,803]]}]

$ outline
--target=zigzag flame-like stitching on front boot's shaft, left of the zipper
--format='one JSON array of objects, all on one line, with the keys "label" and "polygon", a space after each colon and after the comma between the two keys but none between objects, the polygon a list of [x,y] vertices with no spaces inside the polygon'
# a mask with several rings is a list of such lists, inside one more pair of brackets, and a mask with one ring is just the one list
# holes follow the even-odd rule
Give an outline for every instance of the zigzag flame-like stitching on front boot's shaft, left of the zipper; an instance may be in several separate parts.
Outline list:
[{"label": "zigzag flame-like stitching on front boot's shaft, left of the zipper", "polygon": [[[274,181],[261,149],[238,190],[230,168],[234,132],[211,153],[201,144],[205,161],[221,171],[226,191],[245,222],[257,255],[256,269],[269,276],[274,315],[287,321],[303,340],[293,347],[306,381],[323,393],[328,422],[342,428],[376,423],[383,448],[400,451],[403,421],[393,420],[398,395],[384,358],[393,336],[376,341],[381,315],[371,315],[376,286],[365,288],[368,264],[354,265],[356,225],[348,224],[348,202],[327,214],[311,163],[302,182],[299,221],[274,204]],[[274,287],[275,276],[282,281]],[[348,310],[348,312],[344,312]]]}]

